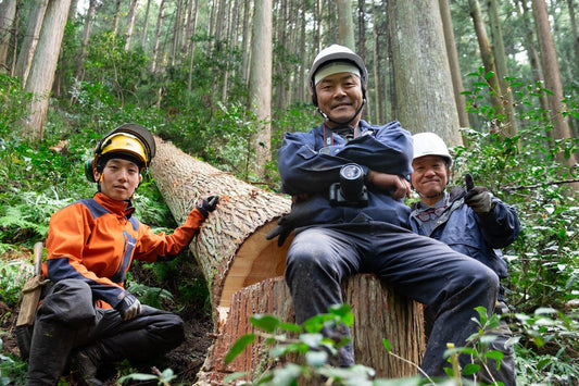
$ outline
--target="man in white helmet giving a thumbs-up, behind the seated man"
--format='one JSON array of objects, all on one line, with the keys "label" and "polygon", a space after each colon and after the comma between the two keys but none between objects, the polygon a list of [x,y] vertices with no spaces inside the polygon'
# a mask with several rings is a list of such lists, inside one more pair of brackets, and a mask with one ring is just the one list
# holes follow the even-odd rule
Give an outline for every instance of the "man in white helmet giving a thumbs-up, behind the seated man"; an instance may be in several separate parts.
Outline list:
[{"label": "man in white helmet giving a thumbs-up, behind the seated man", "polygon": [[[435,133],[419,133],[413,136],[414,170],[412,187],[420,201],[412,206],[411,226],[418,235],[440,240],[457,252],[471,257],[492,269],[500,278],[507,275],[506,262],[499,248],[511,245],[520,231],[517,214],[513,208],[493,197],[481,186],[474,186],[473,177],[466,175],[467,189],[460,186],[446,191],[452,157],[446,144]],[[430,334],[437,310],[427,307],[425,311],[426,333]],[[501,287],[495,313],[508,313]],[[493,360],[479,373],[486,384],[499,381],[504,385],[516,385],[513,346],[508,339],[513,334],[505,320],[489,332],[495,336],[490,349],[503,352],[500,369]]]}]

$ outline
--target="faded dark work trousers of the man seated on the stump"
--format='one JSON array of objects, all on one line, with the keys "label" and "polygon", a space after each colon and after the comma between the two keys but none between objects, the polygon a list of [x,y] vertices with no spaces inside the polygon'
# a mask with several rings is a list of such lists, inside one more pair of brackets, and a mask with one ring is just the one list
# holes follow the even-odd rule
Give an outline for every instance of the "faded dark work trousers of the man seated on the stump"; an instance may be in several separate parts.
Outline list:
[{"label": "faded dark work trousers of the man seated on the stump", "polygon": [[[341,304],[340,283],[358,272],[374,273],[400,294],[437,310],[421,363],[431,376],[445,375],[446,344],[466,346],[477,331],[475,308],[492,313],[499,292],[499,277],[484,264],[399,226],[367,222],[305,227],[297,229],[285,274],[297,322]],[[351,346],[341,356],[342,365],[354,363]],[[461,357],[465,365],[469,358]]]}]

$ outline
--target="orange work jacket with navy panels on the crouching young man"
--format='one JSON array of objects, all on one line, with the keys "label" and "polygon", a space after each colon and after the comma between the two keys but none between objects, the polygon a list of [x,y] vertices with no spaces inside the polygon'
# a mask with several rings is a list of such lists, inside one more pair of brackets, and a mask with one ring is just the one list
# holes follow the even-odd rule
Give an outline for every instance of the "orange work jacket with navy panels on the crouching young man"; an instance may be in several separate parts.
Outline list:
[{"label": "orange work jacket with navy panels on the crouching young man", "polygon": [[73,202],[55,212],[50,219],[42,273],[52,282],[81,279],[100,300],[99,307],[115,307],[133,259],[172,260],[205,220],[193,209],[172,235],[155,234],[131,216],[134,211],[130,201],[97,192],[92,199]]}]

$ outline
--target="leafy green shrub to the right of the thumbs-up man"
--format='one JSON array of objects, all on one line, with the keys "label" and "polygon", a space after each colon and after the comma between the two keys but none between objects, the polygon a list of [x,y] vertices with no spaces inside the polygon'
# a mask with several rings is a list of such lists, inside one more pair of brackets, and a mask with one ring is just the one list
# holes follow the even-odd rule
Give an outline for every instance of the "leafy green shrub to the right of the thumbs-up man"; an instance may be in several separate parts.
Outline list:
[{"label": "leafy green shrub to the right of the thumbs-up man", "polygon": [[[469,111],[484,117],[487,130],[463,130],[465,146],[454,149],[456,174],[471,173],[478,185],[512,204],[521,222],[520,236],[505,249],[509,276],[504,285],[521,324],[516,349],[524,356],[517,360],[523,383],[577,382],[577,372],[567,364],[577,365],[579,351],[577,325],[569,322],[579,299],[579,206],[571,188],[574,182],[577,185],[578,171],[565,160],[577,154],[579,139],[553,138],[549,114],[536,108],[539,103],[534,100],[549,90],[516,82],[511,86],[519,99],[516,113],[520,127],[515,137],[506,137],[496,129],[503,117],[481,102],[484,84],[475,83],[466,94]],[[567,102],[569,114],[577,114],[576,109],[572,112],[576,103]],[[537,314],[545,308],[557,317]]]}]

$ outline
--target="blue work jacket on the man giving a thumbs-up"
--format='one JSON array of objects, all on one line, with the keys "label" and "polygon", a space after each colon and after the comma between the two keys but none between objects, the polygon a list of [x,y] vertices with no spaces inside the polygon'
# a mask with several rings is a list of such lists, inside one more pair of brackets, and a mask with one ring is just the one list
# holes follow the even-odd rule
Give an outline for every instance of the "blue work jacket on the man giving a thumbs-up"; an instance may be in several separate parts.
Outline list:
[{"label": "blue work jacket on the man giving a thumbs-up", "polygon": [[466,190],[455,187],[446,197],[448,209],[436,220],[428,234],[423,222],[417,219],[418,203],[411,213],[414,233],[440,240],[452,249],[471,257],[492,269],[501,278],[507,275],[506,262],[499,248],[511,245],[519,235],[520,223],[513,208],[492,198],[493,209],[486,214],[477,214],[464,203]]}]

